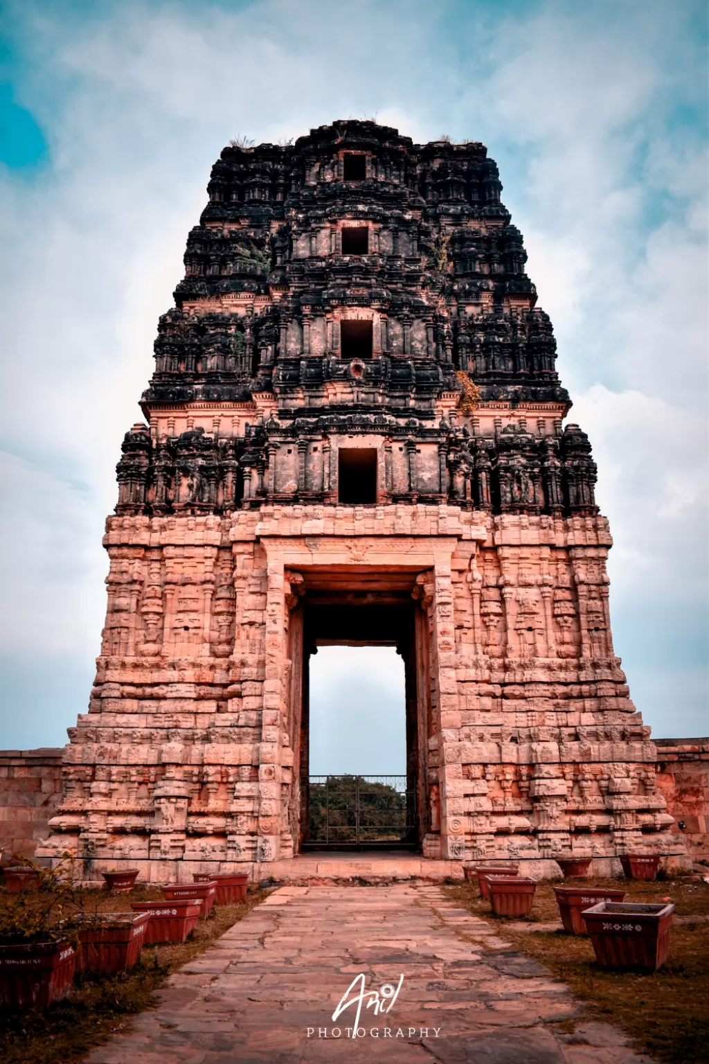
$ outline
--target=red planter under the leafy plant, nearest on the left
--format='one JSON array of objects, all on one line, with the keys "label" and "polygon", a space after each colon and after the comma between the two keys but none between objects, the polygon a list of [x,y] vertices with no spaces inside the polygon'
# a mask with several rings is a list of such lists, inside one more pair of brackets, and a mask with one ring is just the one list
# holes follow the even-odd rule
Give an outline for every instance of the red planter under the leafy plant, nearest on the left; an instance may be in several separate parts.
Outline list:
[{"label": "red planter under the leafy plant, nearest on the left", "polygon": [[0,1004],[47,1009],[69,993],[75,964],[68,942],[0,946]]}]

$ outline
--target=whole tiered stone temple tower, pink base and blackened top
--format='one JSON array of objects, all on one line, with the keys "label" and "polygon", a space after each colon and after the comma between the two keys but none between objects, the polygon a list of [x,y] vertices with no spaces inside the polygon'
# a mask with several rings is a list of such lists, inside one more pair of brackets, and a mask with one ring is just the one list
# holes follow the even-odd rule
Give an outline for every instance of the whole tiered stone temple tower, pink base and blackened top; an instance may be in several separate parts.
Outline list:
[{"label": "whole tiered stone temple tower, pink base and blackened top", "polygon": [[298,853],[308,660],[341,642],[404,658],[424,858],[681,863],[501,187],[483,145],[370,121],[222,151],[122,444],[103,646],[40,855],[166,881]]}]

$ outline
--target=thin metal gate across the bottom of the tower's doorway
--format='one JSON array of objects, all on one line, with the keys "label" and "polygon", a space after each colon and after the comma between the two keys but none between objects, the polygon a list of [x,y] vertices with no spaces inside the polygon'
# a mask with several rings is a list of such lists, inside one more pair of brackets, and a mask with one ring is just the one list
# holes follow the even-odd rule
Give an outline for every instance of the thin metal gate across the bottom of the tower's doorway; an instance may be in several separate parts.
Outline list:
[{"label": "thin metal gate across the bottom of the tower's doorway", "polygon": [[310,776],[303,849],[416,849],[416,795],[405,776]]}]

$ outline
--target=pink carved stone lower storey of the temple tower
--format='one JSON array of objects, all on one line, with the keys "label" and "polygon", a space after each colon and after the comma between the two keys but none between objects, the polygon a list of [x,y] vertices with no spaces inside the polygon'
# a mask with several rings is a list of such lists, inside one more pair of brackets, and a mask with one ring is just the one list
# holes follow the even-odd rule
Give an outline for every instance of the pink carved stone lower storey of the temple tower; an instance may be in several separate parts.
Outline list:
[{"label": "pink carved stone lower storey of the temple tower", "polygon": [[408,575],[424,857],[689,862],[614,656],[603,517],[263,505],[113,517],[104,542],[103,648],[41,857],[165,881],[297,852],[299,601],[328,573]]}]

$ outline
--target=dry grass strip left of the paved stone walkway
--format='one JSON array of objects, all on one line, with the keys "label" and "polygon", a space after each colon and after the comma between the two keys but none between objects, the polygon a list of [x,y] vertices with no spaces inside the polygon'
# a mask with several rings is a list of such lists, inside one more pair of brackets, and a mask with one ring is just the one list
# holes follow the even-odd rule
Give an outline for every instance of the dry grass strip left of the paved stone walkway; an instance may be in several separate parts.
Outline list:
[{"label": "dry grass strip left of the paved stone walkway", "polygon": [[[206,920],[198,921],[186,943],[147,946],[138,964],[128,972],[87,972],[74,982],[66,1001],[57,1001],[45,1012],[0,1009],[0,1060],[3,1064],[70,1064],[81,1060],[92,1046],[122,1030],[130,1016],[155,1008],[153,991],[172,971],[212,946],[268,893],[253,890],[239,904],[213,908]],[[131,901],[162,897],[156,887],[141,887],[121,895],[86,891],[83,900],[90,910],[98,904],[102,912],[125,912]],[[3,900],[0,897],[0,904]]]}]

